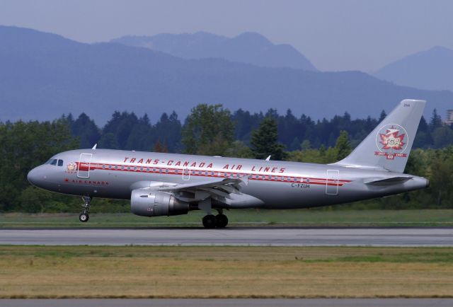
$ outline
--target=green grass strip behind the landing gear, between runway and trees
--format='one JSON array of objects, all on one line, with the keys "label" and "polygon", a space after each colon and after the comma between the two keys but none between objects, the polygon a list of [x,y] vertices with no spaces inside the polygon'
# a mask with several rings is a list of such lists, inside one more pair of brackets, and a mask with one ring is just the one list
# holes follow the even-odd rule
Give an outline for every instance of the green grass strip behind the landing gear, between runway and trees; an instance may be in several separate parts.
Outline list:
[{"label": "green grass strip behind the landing gear, between runway and trees", "polygon": [[[236,209],[224,212],[229,226],[453,226],[453,209],[326,210]],[[78,214],[0,214],[6,227],[159,227],[201,225],[204,212],[147,218],[134,214],[90,214],[80,223]]]}]

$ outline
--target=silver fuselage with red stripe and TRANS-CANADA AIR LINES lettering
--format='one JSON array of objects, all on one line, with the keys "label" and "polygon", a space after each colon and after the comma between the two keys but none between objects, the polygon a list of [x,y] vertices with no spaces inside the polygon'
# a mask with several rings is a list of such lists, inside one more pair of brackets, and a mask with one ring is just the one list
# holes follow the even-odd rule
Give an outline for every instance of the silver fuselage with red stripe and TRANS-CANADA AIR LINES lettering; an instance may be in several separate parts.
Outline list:
[{"label": "silver fuselage with red stripe and TRANS-CANADA AIR LINES lettering", "polygon": [[[425,178],[383,170],[334,165],[262,161],[185,154],[161,154],[110,149],[81,149],[57,154],[62,166],[44,164],[28,180],[45,190],[69,195],[130,199],[137,188],[165,183],[203,183],[215,178],[248,178],[241,192],[256,197],[239,207],[292,209],[354,202],[418,190]],[[408,177],[391,185],[372,180]],[[213,207],[229,207],[213,204]]]}]

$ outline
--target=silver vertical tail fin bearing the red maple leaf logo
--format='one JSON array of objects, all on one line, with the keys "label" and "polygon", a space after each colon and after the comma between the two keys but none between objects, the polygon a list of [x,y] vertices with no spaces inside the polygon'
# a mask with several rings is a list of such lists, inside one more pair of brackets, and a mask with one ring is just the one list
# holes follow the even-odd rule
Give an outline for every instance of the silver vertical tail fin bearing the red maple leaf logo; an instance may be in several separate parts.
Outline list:
[{"label": "silver vertical tail fin bearing the red maple leaf logo", "polygon": [[425,103],[425,100],[401,101],[349,156],[333,164],[403,173]]}]

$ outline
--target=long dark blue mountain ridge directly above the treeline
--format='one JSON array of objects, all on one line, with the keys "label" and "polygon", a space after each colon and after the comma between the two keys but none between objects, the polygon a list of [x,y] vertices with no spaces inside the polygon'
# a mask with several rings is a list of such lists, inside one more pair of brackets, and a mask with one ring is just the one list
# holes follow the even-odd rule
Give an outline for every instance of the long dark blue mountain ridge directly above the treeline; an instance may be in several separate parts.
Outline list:
[{"label": "long dark blue mountain ridge directly above the treeline", "polygon": [[0,26],[0,120],[54,119],[86,112],[102,124],[114,110],[156,120],[198,103],[230,110],[275,108],[295,115],[378,117],[403,98],[445,114],[453,93],[395,86],[358,71],[265,68],[223,59],[181,59],[116,43],[84,44],[59,35]]}]

